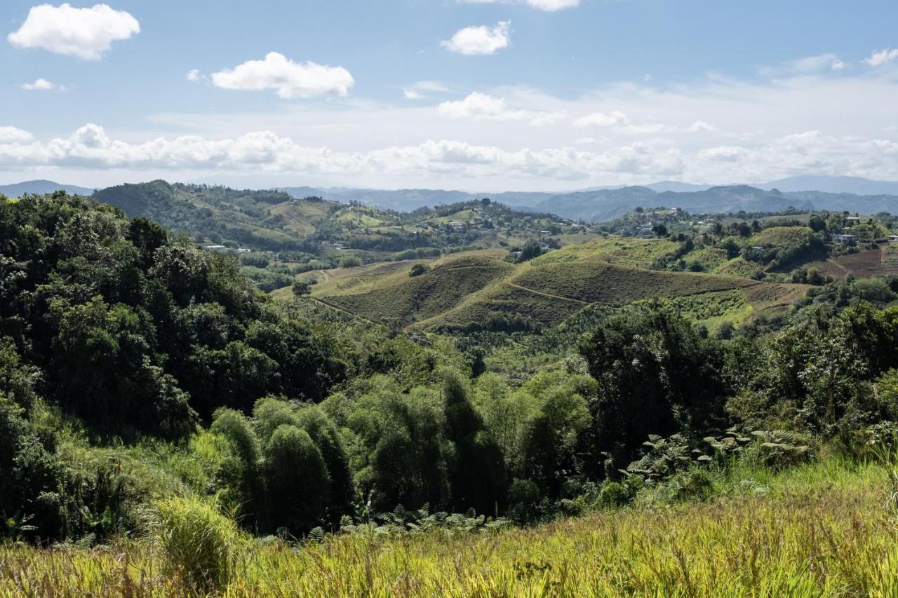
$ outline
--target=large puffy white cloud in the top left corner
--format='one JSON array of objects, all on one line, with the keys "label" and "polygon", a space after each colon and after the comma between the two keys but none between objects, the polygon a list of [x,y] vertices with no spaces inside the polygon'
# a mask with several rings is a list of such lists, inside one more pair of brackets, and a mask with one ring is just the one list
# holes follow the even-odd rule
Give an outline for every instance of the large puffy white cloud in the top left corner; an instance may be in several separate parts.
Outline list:
[{"label": "large puffy white cloud in the top left corner", "polygon": [[43,48],[85,60],[99,60],[113,41],[128,40],[140,23],[107,4],[75,8],[70,4],[32,6],[25,22],[7,40],[19,48]]}]

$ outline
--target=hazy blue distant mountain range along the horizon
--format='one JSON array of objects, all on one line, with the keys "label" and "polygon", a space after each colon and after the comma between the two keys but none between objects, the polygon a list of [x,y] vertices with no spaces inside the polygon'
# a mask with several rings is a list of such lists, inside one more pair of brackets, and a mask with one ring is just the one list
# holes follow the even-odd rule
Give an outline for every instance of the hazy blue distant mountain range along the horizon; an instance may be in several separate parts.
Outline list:
[{"label": "hazy blue distant mountain range along the horizon", "polygon": [[[7,197],[19,197],[22,193],[49,193],[56,189],[83,195],[92,193],[92,189],[48,180],[0,186],[0,193]],[[565,193],[469,193],[444,189],[384,190],[347,187],[283,187],[276,190],[294,198],[320,197],[341,203],[358,201],[400,212],[488,197],[521,211],[551,213],[586,222],[612,220],[635,207],[661,206],[682,207],[699,214],[775,212],[788,207],[802,210],[850,210],[862,214],[898,213],[898,182],[857,177],[803,176],[755,185],[716,187],[665,180],[644,187],[595,188]],[[98,192],[97,195],[105,198],[110,194],[104,196],[103,192]]]}]

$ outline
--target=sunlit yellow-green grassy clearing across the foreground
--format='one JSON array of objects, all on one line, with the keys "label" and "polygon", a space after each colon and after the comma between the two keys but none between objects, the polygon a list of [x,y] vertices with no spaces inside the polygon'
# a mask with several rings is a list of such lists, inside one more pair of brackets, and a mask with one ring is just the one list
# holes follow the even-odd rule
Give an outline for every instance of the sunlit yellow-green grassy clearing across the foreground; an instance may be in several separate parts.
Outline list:
[{"label": "sunlit yellow-green grassy clearing across the foreground", "polygon": [[[636,506],[531,529],[368,529],[239,550],[226,596],[894,596],[889,468],[828,460],[719,473],[718,497]],[[147,541],[0,549],[0,595],[174,596],[189,577]]]}]

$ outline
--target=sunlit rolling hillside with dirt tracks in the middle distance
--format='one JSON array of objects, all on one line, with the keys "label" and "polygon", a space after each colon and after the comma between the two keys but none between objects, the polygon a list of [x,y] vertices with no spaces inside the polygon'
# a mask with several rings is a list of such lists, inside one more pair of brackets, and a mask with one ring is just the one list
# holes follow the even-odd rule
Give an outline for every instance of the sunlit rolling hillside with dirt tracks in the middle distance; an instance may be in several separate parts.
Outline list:
[{"label": "sunlit rolling hillside with dirt tracks in the middle distance", "polygon": [[[683,312],[714,326],[782,310],[809,288],[638,267],[653,259],[652,245],[663,247],[665,242],[607,240],[586,245],[590,247],[570,246],[518,265],[462,254],[433,262],[418,277],[409,276],[416,263],[410,261],[391,268],[360,268],[355,276],[343,274],[314,286],[313,298],[369,321],[464,332],[544,330],[587,305],[621,307],[653,297],[675,299]],[[634,257],[640,254],[641,260]],[[550,259],[553,256],[556,259]]]}]

